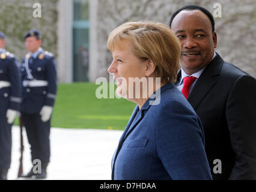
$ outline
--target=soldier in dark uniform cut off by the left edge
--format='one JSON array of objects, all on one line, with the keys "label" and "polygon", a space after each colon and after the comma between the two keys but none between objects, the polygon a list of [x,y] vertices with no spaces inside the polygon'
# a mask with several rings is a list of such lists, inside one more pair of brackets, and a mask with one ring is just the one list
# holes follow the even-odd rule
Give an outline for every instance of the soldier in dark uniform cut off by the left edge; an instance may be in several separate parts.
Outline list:
[{"label": "soldier in dark uniform cut off by the left edge", "polygon": [[14,55],[5,51],[4,38],[0,32],[0,180],[7,179],[11,164],[11,126],[22,101],[19,66]]}]

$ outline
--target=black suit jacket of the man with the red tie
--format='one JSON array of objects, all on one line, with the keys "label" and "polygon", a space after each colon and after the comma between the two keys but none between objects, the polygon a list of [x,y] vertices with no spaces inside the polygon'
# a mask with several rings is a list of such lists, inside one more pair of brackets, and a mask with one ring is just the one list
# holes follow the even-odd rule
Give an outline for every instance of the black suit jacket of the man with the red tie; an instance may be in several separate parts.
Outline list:
[{"label": "black suit jacket of the man with the red tie", "polygon": [[203,124],[213,179],[256,179],[256,80],[217,54],[187,101]]}]

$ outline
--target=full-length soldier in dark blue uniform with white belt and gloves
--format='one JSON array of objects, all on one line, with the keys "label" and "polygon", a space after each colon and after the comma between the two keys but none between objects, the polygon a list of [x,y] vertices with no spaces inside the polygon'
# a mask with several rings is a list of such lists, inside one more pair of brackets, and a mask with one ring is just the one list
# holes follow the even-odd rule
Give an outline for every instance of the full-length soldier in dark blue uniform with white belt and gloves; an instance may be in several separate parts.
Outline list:
[{"label": "full-length soldier in dark blue uniform with white belt and gloves", "polygon": [[[28,53],[22,59],[21,114],[31,145],[32,164],[40,160],[40,169],[32,169],[26,178],[46,178],[50,161],[50,120],[56,98],[56,63],[52,53],[41,49],[40,32],[32,29],[24,37]],[[37,160],[37,161],[34,161]],[[37,164],[39,165],[39,164]]]}]

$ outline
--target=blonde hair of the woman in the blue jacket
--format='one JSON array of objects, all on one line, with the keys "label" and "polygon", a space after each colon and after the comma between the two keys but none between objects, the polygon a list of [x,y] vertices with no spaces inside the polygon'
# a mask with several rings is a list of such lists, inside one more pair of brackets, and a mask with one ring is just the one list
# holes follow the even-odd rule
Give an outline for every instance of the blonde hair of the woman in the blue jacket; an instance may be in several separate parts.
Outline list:
[{"label": "blonde hair of the woman in the blue jacket", "polygon": [[154,73],[161,82],[176,81],[181,46],[168,26],[156,22],[127,22],[115,28],[108,37],[108,49],[121,46],[122,40],[131,40],[133,53],[139,59],[156,64]]}]

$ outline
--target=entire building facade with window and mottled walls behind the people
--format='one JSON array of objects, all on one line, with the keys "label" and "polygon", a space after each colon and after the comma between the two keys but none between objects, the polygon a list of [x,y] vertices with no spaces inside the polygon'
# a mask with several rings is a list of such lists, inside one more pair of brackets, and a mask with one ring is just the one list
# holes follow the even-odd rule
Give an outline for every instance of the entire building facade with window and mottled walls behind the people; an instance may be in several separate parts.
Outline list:
[{"label": "entire building facade with window and mottled walls behind the people", "polygon": [[[256,77],[256,2],[254,0],[0,0],[0,31],[7,49],[18,59],[25,55],[23,35],[31,28],[43,34],[43,49],[57,59],[58,81],[95,82],[108,78],[112,56],[106,47],[108,34],[124,22],[153,20],[169,24],[180,7],[197,4],[216,14],[216,51]],[[35,3],[41,17],[33,17]],[[221,9],[219,9],[221,6]]]}]

